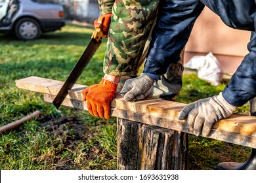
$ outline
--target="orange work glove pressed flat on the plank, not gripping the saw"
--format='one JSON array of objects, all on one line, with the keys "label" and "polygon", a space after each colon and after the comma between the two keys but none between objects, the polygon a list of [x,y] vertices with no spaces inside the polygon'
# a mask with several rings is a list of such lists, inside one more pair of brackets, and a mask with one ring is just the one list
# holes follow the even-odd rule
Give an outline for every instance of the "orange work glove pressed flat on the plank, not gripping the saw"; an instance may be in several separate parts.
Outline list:
[{"label": "orange work glove pressed flat on the plank, not gripping the saw", "polygon": [[83,101],[91,115],[110,118],[110,102],[116,96],[117,83],[102,78],[99,84],[89,86],[82,91]]}]

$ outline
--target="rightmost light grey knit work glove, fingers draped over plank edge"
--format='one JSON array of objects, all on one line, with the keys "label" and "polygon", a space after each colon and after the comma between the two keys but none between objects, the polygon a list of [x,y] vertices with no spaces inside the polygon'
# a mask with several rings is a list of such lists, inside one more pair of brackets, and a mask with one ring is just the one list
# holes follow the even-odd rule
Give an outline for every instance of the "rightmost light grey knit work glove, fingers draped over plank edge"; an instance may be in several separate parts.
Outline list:
[{"label": "rightmost light grey knit work glove, fingers draped over plank edge", "polygon": [[222,93],[219,93],[186,105],[179,114],[179,120],[187,117],[188,128],[192,131],[194,129],[195,135],[198,136],[202,132],[203,136],[207,136],[215,122],[228,118],[236,108],[227,103]]}]

